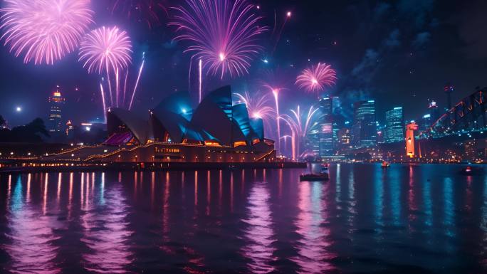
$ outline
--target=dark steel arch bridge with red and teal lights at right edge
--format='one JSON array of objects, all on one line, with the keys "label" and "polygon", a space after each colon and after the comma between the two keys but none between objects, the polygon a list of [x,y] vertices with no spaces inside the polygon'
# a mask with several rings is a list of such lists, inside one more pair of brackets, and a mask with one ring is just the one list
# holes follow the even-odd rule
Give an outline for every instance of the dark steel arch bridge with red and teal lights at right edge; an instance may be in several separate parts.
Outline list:
[{"label": "dark steel arch bridge with red and teal lights at right edge", "polygon": [[437,139],[458,135],[469,138],[487,133],[487,87],[476,88],[471,95],[462,98],[436,120],[431,127],[419,132],[419,139]]}]

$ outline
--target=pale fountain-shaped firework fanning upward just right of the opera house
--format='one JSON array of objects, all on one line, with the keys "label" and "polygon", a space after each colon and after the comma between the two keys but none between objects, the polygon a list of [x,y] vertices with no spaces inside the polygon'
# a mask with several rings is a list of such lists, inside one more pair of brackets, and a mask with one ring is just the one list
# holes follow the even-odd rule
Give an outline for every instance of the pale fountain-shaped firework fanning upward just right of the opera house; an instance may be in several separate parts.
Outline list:
[{"label": "pale fountain-shaped firework fanning upward just right of the opera house", "polygon": [[288,125],[291,135],[291,151],[293,159],[300,155],[300,144],[308,136],[308,133],[313,130],[320,119],[319,109],[311,106],[307,113],[300,111],[300,106],[296,110],[290,110],[291,115],[282,115],[281,119]]}]

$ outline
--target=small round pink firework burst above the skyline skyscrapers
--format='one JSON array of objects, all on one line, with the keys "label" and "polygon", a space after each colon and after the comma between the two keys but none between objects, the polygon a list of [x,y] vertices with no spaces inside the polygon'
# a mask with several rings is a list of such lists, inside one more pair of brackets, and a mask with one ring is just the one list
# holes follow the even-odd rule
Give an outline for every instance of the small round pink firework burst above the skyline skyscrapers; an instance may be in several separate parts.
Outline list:
[{"label": "small round pink firework burst above the skyline skyscrapers", "polygon": [[337,73],[326,63],[318,63],[306,68],[296,79],[296,85],[306,90],[308,93],[318,93],[325,87],[335,85]]}]

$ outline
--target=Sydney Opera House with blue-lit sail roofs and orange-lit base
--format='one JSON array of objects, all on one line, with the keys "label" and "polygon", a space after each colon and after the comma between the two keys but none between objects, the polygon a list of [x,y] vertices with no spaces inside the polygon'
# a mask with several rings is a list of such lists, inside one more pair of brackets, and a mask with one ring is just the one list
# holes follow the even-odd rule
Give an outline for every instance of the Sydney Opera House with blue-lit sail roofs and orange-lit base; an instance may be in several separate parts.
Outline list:
[{"label": "Sydney Opera House with blue-lit sail roofs and orange-lit base", "polygon": [[70,149],[45,160],[86,162],[274,162],[274,143],[264,137],[263,121],[234,105],[231,88],[206,95],[193,108],[187,92],[177,92],[147,113],[107,114],[108,139],[97,146]]}]

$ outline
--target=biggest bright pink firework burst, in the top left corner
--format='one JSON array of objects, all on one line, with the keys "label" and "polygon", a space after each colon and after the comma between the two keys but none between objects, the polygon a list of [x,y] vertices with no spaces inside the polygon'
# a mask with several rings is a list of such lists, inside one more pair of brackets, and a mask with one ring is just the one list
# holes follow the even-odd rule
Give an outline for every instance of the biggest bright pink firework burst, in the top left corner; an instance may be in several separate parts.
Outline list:
[{"label": "biggest bright pink firework burst, in the top left corner", "polygon": [[52,65],[78,48],[93,23],[90,0],[5,0],[4,44],[23,62]]}]

